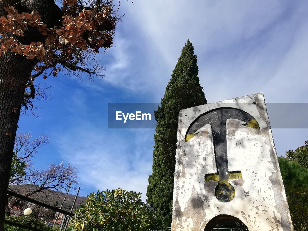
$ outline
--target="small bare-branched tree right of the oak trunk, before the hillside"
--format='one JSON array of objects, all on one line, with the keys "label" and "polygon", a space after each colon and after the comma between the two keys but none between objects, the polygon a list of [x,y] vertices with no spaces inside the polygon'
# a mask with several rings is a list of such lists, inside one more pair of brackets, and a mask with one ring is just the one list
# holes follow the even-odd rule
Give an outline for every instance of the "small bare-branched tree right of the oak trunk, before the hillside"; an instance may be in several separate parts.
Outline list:
[{"label": "small bare-branched tree right of the oak trunk, before the hillside", "polygon": [[[39,136],[31,139],[31,133],[18,133],[15,138],[14,154],[8,189],[32,199],[54,205],[55,197],[59,197],[61,191],[66,191],[71,181],[71,189],[77,189],[77,167],[63,163],[50,164],[48,168],[34,168],[32,159],[38,154],[38,149],[49,143],[47,136]],[[27,202],[16,198],[8,198],[6,213],[14,206],[25,209]],[[25,204],[26,203],[26,204]],[[46,212],[41,206],[36,206],[32,217],[40,217],[48,220],[52,217],[52,211]]]}]

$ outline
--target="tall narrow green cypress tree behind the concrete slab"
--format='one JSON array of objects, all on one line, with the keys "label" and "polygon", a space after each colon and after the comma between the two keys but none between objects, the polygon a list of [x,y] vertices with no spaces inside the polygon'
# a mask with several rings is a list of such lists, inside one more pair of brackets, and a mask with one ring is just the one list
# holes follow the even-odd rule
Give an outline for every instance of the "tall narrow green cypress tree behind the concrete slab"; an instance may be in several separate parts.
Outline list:
[{"label": "tall narrow green cypress tree behind the concrete slab", "polygon": [[190,40],[183,47],[172,71],[161,106],[154,111],[156,134],[154,135],[153,167],[147,188],[148,203],[165,225],[170,227],[172,217],[173,181],[176,153],[176,134],[179,111],[206,104],[198,77],[197,55]]}]

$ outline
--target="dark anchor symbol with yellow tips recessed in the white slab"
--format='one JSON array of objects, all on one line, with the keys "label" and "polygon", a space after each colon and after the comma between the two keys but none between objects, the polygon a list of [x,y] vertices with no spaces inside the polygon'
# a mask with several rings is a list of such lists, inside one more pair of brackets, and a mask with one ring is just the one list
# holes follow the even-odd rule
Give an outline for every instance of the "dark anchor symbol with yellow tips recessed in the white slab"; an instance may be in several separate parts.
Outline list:
[{"label": "dark anchor symbol with yellow tips recessed in the white slab", "polygon": [[217,173],[207,174],[206,181],[218,181],[215,188],[215,196],[218,201],[229,202],[235,196],[234,187],[229,184],[231,179],[242,178],[241,171],[228,172],[227,156],[227,120],[237,119],[243,121],[244,126],[260,129],[260,126],[252,115],[245,111],[232,107],[221,107],[205,114],[200,115],[188,128],[185,136],[185,142],[198,134],[198,130],[205,124],[210,124],[213,133],[214,153],[216,159]]}]

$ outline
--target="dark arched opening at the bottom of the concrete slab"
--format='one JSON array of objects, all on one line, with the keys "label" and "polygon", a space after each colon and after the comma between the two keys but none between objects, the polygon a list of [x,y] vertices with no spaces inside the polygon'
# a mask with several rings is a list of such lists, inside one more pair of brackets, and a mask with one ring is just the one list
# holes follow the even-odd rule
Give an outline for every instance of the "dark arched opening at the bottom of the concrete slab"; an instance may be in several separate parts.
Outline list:
[{"label": "dark arched opening at the bottom of the concrete slab", "polygon": [[204,231],[211,231],[211,230],[249,231],[247,226],[240,219],[225,214],[213,217],[206,224]]}]

